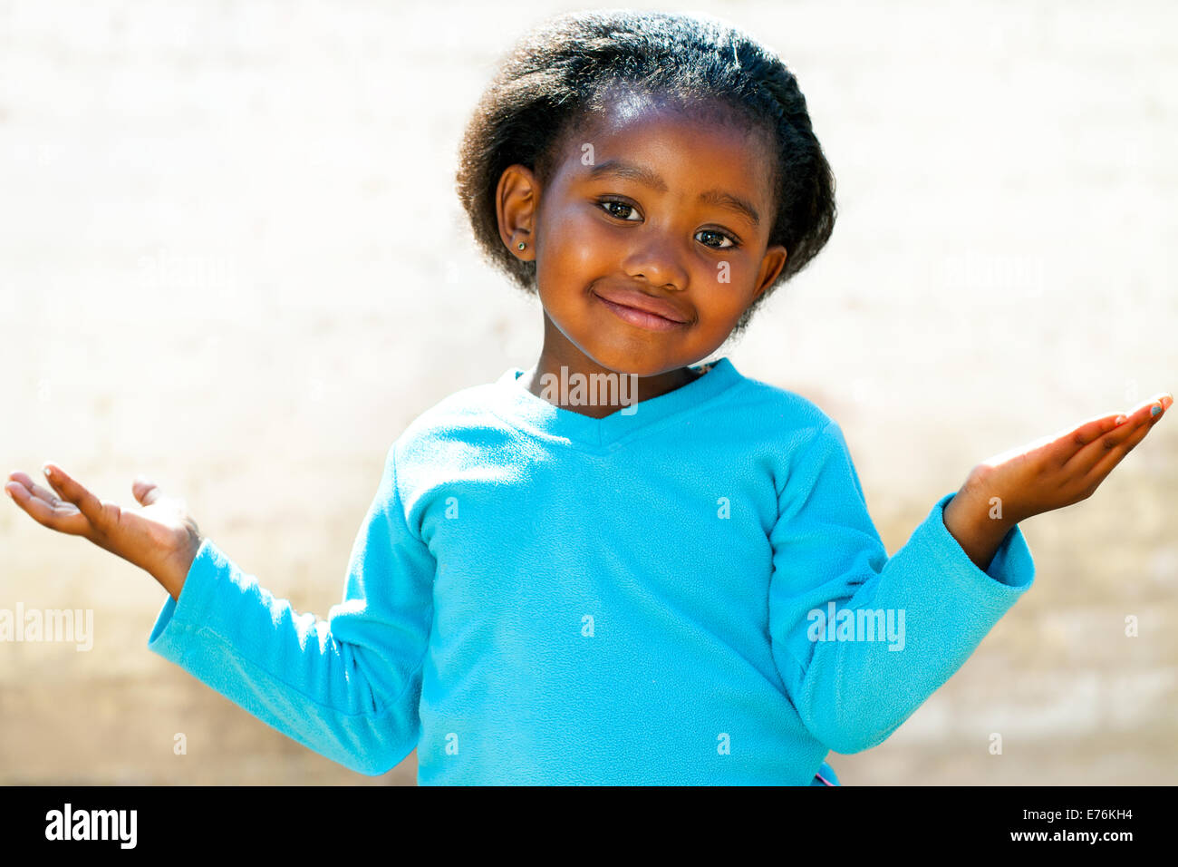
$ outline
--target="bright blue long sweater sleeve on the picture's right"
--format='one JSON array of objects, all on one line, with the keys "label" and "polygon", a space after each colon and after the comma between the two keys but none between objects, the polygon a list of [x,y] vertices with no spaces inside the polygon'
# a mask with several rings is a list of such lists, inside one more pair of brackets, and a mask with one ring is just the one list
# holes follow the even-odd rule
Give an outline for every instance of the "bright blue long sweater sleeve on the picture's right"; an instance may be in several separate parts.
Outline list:
[{"label": "bright blue long sweater sleeve on the picture's right", "polygon": [[885,741],[1034,579],[1018,525],[978,569],[945,526],[953,495],[888,558],[838,423],[790,460],[770,532],[772,649],[806,728],[838,753]]}]

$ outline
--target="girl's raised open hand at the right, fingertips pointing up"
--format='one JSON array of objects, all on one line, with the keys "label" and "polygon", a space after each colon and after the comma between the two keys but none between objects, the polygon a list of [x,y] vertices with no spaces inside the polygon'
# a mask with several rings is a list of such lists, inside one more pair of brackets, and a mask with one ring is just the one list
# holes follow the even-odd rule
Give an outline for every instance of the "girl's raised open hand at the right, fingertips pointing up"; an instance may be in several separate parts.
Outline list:
[{"label": "girl's raised open hand at the right, fingertips pointing up", "polygon": [[969,472],[949,506],[961,499],[957,508],[980,508],[980,514],[986,514],[998,498],[1000,523],[1010,527],[1031,515],[1086,500],[1173,402],[1170,394],[1159,393],[1127,416],[1114,413],[1090,419],[997,454]]}]

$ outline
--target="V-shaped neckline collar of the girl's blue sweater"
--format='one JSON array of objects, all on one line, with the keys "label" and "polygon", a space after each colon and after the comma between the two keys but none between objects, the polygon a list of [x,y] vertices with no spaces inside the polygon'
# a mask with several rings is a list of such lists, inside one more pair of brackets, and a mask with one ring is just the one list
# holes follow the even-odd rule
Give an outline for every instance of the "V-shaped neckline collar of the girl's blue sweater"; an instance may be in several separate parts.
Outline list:
[{"label": "V-shaped neckline collar of the girl's blue sweater", "polygon": [[707,373],[687,385],[626,407],[633,409],[630,414],[617,409],[603,419],[558,407],[532,394],[519,382],[523,369],[511,367],[494,383],[491,409],[503,420],[538,436],[564,439],[585,451],[610,452],[638,432],[697,407],[743,379],[727,356],[691,369],[708,367]]}]

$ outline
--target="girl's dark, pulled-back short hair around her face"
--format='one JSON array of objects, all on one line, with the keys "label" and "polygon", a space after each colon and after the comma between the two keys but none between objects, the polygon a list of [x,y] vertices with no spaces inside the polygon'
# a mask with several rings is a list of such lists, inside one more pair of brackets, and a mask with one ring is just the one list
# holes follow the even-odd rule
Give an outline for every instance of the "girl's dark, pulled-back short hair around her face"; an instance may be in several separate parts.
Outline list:
[{"label": "girl's dark, pulled-back short hair around her face", "polygon": [[626,9],[557,15],[527,33],[501,61],[458,150],[457,191],[489,262],[536,294],[536,263],[499,235],[496,190],[503,171],[528,166],[542,185],[567,133],[597,116],[618,87],[719,106],[770,136],[776,164],[769,244],[786,248],[776,280],[749,306],[748,326],[773,290],[818,255],[834,229],[834,175],[814,136],[806,98],[785,64],[744,32],[697,14]]}]

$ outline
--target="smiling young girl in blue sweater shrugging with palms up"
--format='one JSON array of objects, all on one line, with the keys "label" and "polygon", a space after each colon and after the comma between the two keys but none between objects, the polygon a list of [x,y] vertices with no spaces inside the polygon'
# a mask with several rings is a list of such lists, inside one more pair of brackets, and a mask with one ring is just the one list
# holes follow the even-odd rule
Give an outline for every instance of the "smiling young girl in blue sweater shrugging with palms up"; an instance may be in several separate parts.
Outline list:
[{"label": "smiling young girl in blue sweater shrugging with palms up", "polygon": [[416,747],[421,783],[833,784],[827,753],[887,738],[1031,586],[1019,521],[1090,497],[1172,403],[979,464],[888,558],[839,425],[701,363],[835,217],[793,74],[713,19],[529,34],[458,189],[543,348],[392,444],[326,620],[151,482],[138,508],[52,464],[52,491],[5,486],[167,590],[151,650],[363,774]]}]

